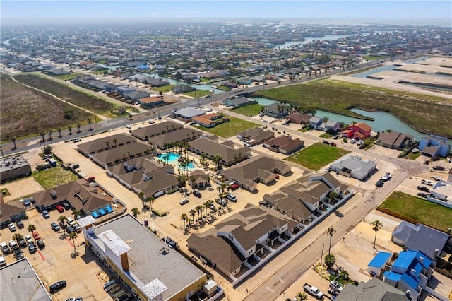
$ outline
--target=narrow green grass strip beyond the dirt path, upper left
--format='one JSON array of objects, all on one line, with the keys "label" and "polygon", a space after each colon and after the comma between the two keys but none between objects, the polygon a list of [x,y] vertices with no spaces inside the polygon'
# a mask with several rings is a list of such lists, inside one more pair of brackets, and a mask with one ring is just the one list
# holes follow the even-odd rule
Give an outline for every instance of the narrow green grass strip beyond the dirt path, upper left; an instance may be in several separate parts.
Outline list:
[{"label": "narrow green grass strip beyond the dirt path, upper left", "polygon": [[32,87],[44,90],[58,96],[61,99],[71,102],[85,109],[95,110],[99,114],[109,113],[114,109],[114,105],[100,98],[92,97],[78,90],[73,90],[57,81],[52,81],[33,74],[20,74],[15,76],[18,81],[31,85]]}]

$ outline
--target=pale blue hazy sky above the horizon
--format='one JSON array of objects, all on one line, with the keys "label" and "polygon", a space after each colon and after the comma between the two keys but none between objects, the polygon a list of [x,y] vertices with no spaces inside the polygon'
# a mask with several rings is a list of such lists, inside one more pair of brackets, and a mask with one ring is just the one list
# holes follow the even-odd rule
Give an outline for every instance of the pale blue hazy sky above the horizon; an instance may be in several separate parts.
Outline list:
[{"label": "pale blue hazy sky above the horizon", "polygon": [[1,25],[271,18],[452,27],[451,0],[1,0],[0,8]]}]

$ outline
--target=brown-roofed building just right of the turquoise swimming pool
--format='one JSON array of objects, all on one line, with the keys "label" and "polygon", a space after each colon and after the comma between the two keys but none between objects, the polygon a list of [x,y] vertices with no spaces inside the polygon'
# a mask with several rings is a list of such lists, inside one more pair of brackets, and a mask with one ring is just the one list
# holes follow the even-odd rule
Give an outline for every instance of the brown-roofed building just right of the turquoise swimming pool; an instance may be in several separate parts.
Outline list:
[{"label": "brown-roofed building just right of the turquoise swimming pool", "polygon": [[190,151],[198,154],[205,154],[207,158],[214,158],[220,155],[220,163],[225,166],[234,165],[249,157],[251,150],[247,146],[235,147],[232,141],[220,142],[218,136],[199,138],[189,142]]}]

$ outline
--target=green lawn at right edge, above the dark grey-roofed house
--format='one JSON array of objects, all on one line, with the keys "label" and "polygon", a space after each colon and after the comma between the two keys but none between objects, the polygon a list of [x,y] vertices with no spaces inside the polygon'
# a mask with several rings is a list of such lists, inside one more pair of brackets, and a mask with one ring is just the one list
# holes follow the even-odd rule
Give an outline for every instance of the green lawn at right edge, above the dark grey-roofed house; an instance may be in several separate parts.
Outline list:
[{"label": "green lawn at right edge, above the dark grey-roofed house", "polygon": [[422,223],[443,232],[447,232],[452,225],[451,208],[400,191],[394,191],[377,209],[410,223]]}]

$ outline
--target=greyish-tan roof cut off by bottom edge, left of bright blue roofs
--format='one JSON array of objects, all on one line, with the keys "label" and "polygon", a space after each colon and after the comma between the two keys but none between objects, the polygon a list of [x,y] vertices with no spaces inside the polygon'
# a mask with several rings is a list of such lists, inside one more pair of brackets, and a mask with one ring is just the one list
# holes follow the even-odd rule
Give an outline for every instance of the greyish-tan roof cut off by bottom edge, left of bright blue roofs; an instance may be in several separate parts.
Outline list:
[{"label": "greyish-tan roof cut off by bottom edge, left of bright blue roofs", "polygon": [[379,278],[361,281],[356,285],[347,285],[335,297],[335,301],[409,301],[405,292],[384,283]]}]

